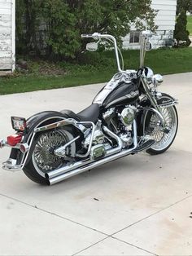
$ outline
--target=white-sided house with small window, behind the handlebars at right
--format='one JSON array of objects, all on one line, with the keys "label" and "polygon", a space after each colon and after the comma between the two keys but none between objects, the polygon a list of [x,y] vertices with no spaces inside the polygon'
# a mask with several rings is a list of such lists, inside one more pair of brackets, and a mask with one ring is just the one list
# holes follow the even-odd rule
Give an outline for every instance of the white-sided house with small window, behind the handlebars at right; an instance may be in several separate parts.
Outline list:
[{"label": "white-sided house with small window, behind the handlebars at right", "polygon": [[[158,29],[155,35],[151,38],[153,48],[166,46],[170,43],[175,29],[177,0],[152,0],[152,8],[158,13],[155,17],[155,24]],[[138,49],[139,46],[139,32],[134,26],[123,39],[124,49]]]}]

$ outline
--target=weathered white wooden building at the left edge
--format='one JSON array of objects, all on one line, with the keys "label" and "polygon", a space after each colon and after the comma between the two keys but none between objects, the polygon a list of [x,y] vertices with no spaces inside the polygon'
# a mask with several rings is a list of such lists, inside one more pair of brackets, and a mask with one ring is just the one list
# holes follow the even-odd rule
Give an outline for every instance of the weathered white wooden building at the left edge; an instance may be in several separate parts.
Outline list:
[{"label": "weathered white wooden building at the left edge", "polygon": [[0,70],[15,70],[15,0],[0,0]]}]

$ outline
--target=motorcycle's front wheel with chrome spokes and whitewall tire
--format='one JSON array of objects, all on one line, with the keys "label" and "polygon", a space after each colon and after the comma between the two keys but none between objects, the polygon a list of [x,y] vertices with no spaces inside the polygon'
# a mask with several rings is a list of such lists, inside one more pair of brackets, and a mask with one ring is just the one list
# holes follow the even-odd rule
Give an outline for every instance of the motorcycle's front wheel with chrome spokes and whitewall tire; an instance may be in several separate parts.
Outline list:
[{"label": "motorcycle's front wheel with chrome spokes and whitewall tire", "polygon": [[147,125],[145,125],[145,134],[151,135],[155,139],[155,143],[146,152],[151,155],[157,155],[165,152],[172,145],[178,128],[178,115],[175,106],[161,108],[161,113],[164,116],[168,132],[164,132],[159,125],[159,117],[155,113],[148,113]]}]

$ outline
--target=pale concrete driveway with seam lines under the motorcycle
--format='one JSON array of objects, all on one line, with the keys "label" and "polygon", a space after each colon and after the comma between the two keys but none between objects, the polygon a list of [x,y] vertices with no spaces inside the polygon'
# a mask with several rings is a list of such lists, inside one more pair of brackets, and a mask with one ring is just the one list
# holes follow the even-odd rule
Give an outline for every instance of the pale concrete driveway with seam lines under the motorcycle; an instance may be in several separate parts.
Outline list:
[{"label": "pale concrete driveway with seam lines under the motorcycle", "polygon": [[[53,187],[0,168],[0,255],[192,255],[192,73],[164,80],[160,90],[180,102],[168,152],[124,157]],[[0,137],[13,132],[11,115],[77,112],[102,86],[0,96]]]}]

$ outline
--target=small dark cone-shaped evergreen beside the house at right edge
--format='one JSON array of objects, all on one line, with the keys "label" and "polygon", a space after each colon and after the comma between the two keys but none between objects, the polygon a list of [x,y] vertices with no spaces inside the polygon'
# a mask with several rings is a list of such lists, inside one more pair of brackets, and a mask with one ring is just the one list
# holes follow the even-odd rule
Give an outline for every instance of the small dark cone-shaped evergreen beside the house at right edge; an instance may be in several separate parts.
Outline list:
[{"label": "small dark cone-shaped evergreen beside the house at right edge", "polygon": [[181,41],[183,42],[181,43],[182,46],[190,46],[190,33],[188,30],[186,30],[186,24],[186,13],[184,10],[182,10],[177,18],[177,24],[174,32],[174,38],[177,40],[177,46],[180,46]]}]

